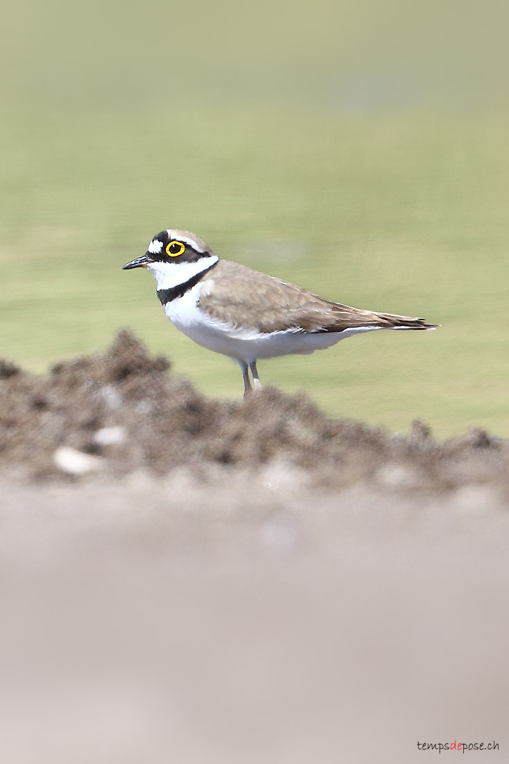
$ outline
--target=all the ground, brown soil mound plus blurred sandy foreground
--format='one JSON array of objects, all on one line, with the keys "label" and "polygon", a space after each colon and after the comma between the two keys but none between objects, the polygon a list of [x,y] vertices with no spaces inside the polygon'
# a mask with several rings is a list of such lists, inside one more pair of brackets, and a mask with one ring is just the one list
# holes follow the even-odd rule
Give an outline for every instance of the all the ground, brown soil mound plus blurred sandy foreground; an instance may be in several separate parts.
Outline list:
[{"label": "all the ground, brown soil mound plus blurred sandy foreground", "polygon": [[0,370],[0,760],[505,760],[507,443],[166,368],[125,332]]}]

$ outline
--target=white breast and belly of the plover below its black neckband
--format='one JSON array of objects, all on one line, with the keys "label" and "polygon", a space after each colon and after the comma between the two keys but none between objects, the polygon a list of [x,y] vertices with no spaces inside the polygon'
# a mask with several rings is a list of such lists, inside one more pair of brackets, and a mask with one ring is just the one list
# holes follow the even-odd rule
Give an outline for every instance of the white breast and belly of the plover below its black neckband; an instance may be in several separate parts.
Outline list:
[{"label": "white breast and belly of the plover below its black neckband", "polygon": [[258,358],[276,358],[292,353],[308,354],[315,350],[330,348],[346,337],[362,332],[372,332],[378,326],[361,329],[345,329],[344,332],[311,334],[297,329],[286,332],[261,334],[256,329],[238,329],[224,322],[215,321],[198,309],[196,303],[201,284],[197,283],[182,297],[167,303],[164,312],[170,321],[203,348],[228,355],[236,361],[256,361]]}]

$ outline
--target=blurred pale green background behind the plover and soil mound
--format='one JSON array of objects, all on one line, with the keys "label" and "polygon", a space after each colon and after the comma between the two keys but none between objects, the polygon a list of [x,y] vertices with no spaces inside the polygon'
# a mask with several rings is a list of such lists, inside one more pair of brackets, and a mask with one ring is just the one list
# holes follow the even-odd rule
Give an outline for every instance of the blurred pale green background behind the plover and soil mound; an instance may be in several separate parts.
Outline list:
[{"label": "blurred pale green background behind the plover and soil mound", "polygon": [[128,326],[240,397],[238,367],[122,273],[161,228],[437,332],[260,364],[330,413],[509,435],[505,5],[18,4],[0,40],[0,354],[32,371]]}]

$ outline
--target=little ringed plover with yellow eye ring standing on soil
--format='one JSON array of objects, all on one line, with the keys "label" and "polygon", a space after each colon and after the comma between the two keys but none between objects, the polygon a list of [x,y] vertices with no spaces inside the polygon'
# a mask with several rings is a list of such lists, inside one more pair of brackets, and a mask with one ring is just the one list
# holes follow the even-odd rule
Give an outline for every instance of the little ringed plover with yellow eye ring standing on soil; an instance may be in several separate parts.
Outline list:
[{"label": "little ringed plover with yellow eye ring standing on soil", "polygon": [[170,321],[187,337],[240,365],[244,394],[261,387],[256,362],[308,354],[376,329],[436,329],[424,319],[332,303],[299,286],[219,260],[198,236],[168,228],[124,266],[148,268]]}]

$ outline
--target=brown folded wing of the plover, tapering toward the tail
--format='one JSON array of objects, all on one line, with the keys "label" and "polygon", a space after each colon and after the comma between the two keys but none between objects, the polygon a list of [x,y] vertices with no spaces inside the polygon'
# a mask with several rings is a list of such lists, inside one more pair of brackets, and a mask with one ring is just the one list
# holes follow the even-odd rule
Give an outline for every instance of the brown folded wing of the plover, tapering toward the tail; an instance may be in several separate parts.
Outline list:
[{"label": "brown folded wing of the plover, tapering toward the tail", "polygon": [[[207,284],[213,281],[213,289]],[[303,332],[343,332],[359,327],[431,329],[423,319],[359,310],[221,260],[202,280],[199,307],[211,318],[235,326],[252,326],[262,333],[300,329]],[[212,285],[211,285],[212,286]]]}]

